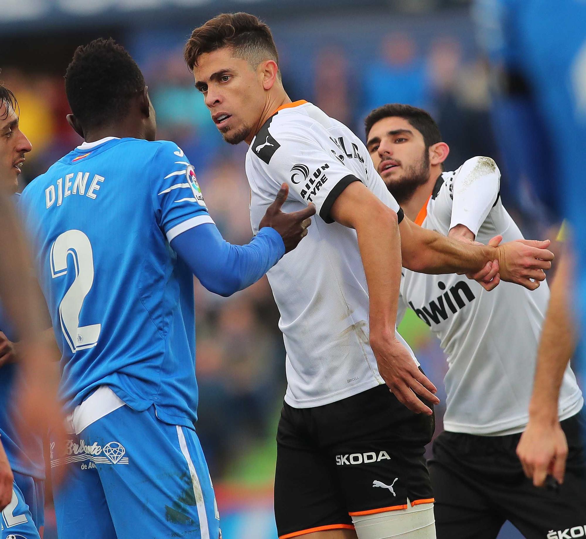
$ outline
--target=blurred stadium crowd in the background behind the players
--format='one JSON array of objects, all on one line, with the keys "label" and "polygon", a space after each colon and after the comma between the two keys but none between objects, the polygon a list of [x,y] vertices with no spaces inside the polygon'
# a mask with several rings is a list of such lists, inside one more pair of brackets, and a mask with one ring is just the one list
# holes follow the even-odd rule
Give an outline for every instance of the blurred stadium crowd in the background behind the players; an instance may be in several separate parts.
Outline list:
[{"label": "blurred stadium crowd in the background behind the players", "polygon": [[[336,15],[338,22],[328,25],[332,29],[320,29],[319,20],[308,13],[287,22],[291,13],[284,7],[267,22],[280,50],[285,89],[293,100],[308,99],[359,136],[364,136],[362,121],[367,112],[385,103],[427,109],[451,148],[446,170],[455,170],[475,155],[495,158],[503,174],[503,200],[524,234],[547,235],[543,227],[548,223],[531,218],[530,194],[518,187],[522,178],[513,177],[499,160],[488,64],[475,46],[469,6],[459,4],[460,8],[425,15],[342,13]],[[200,20],[182,23],[192,27]],[[352,32],[340,32],[340,28],[352,28]],[[328,35],[333,29],[338,30],[336,39]],[[158,138],[178,143],[195,165],[210,213],[224,238],[232,243],[249,241],[246,147],[227,146],[210,121],[182,57],[188,31],[92,28],[86,39],[75,44],[99,35],[112,35],[137,59],[156,110]],[[65,120],[69,109],[63,72],[74,47],[57,47],[59,36],[49,37],[47,47],[49,52],[54,50],[49,67],[31,67],[4,55],[0,61],[0,77],[18,97],[21,129],[33,145],[21,176],[24,183],[81,142]],[[11,39],[15,43],[19,37]],[[222,510],[222,483],[270,493],[274,431],[285,390],[285,352],[266,278],[229,299],[208,293],[199,283],[195,287],[197,431]],[[400,330],[445,401],[441,380],[447,365],[438,343],[413,313],[408,313]],[[442,405],[439,408],[437,428],[441,430]],[[224,535],[229,537],[227,530]]]}]

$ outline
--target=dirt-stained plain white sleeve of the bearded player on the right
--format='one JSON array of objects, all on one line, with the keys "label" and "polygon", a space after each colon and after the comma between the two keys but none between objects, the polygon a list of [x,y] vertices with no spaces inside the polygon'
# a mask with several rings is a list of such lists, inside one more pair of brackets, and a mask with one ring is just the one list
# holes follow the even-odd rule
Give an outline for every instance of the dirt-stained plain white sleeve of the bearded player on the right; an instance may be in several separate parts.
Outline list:
[{"label": "dirt-stained plain white sleeve of the bearded player on the right", "polygon": [[500,193],[500,170],[490,157],[472,157],[452,179],[452,217],[449,229],[465,225],[478,235]]}]

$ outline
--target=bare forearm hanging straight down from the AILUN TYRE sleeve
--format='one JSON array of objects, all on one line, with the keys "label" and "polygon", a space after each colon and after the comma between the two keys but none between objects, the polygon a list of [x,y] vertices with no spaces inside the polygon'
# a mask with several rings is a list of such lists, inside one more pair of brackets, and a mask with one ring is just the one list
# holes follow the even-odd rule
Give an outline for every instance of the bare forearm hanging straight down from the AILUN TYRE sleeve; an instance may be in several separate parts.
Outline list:
[{"label": "bare forearm hanging straight down from the AILUN TYRE sleeve", "polygon": [[370,337],[394,335],[401,284],[397,214],[386,207],[372,208],[355,228],[370,297]]}]

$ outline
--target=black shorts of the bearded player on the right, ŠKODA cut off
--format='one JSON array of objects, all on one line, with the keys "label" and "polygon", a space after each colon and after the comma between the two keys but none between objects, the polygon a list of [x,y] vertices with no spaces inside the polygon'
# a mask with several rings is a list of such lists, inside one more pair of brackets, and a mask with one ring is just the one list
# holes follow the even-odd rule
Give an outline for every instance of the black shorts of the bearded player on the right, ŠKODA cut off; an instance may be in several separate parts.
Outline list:
[{"label": "black shorts of the bearded player on the right, \u0160KODA cut off", "polygon": [[438,539],[495,539],[509,520],[529,539],[586,537],[584,420],[561,422],[568,441],[565,478],[537,488],[516,454],[520,434],[442,432],[428,462]]}]

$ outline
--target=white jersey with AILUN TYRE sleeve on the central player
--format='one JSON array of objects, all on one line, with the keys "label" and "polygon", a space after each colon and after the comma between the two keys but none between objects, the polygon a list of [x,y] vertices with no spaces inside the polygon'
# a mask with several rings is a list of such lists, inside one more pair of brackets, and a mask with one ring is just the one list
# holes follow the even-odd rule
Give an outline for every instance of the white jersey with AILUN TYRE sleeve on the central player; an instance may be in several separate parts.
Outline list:
[{"label": "white jersey with AILUN TYRE sleeve on the central player", "polygon": [[357,180],[401,213],[366,147],[345,125],[297,101],[257,133],[246,175],[255,234],[282,183],[289,186],[283,211],[316,206],[308,235],[267,274],[287,351],[285,401],[296,408],[322,406],[383,384],[369,345],[369,296],[356,231],[329,215],[336,197]]}]

